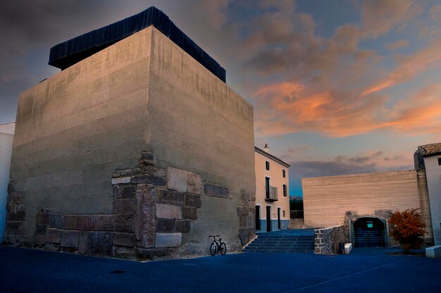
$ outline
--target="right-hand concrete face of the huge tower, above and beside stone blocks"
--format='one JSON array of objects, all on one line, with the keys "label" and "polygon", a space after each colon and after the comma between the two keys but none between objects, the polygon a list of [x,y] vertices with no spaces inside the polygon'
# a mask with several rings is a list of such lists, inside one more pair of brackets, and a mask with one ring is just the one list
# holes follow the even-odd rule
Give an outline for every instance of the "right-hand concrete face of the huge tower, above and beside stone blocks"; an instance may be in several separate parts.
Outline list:
[{"label": "right-hand concrete face of the huge tower, above and beside stone blocks", "polygon": [[[156,29],[151,52],[146,141],[159,166],[189,170],[230,190],[230,199],[201,197],[189,249],[197,251],[198,243],[206,251],[208,236],[216,234],[232,245],[240,229],[240,192],[254,194],[256,186],[253,108]],[[247,216],[242,226],[254,227]]]}]

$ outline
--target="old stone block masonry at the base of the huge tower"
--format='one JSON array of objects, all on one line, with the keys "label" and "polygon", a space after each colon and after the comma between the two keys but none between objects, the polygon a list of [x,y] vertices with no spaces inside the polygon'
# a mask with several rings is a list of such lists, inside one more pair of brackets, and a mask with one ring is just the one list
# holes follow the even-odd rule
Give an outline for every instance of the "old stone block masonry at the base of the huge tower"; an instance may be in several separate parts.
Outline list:
[{"label": "old stone block masonry at the base of the huge tower", "polygon": [[[39,208],[35,219],[35,242],[23,242],[26,211],[11,181],[8,194],[5,242],[77,254],[119,258],[175,257],[197,220],[203,190],[202,176],[186,170],[156,168],[154,155],[143,151],[139,165],[113,173],[113,213],[66,214]],[[228,200],[229,189],[206,183],[209,197]],[[238,207],[248,216],[254,197]],[[242,222],[241,222],[242,223]],[[252,223],[240,225],[240,239],[254,235]]]}]

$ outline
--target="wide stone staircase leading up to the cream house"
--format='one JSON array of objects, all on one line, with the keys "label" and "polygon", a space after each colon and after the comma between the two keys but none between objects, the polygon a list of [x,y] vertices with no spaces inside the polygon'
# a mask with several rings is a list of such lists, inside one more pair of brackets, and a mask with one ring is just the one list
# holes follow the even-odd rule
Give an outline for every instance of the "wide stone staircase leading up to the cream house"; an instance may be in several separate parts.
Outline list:
[{"label": "wide stone staircase leading up to the cream house", "polygon": [[262,233],[245,247],[247,252],[282,252],[285,254],[313,254],[313,235],[280,235]]}]

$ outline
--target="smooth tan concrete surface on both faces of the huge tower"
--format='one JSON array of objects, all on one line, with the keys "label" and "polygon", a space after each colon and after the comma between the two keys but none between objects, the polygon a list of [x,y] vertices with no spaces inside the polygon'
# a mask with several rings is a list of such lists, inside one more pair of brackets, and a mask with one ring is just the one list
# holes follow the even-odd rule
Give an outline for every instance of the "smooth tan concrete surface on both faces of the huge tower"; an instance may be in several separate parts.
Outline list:
[{"label": "smooth tan concrete surface on both faces of the huge tower", "polygon": [[[140,167],[150,158],[139,158],[142,151],[154,156],[155,169],[146,169],[147,175]],[[149,180],[166,170],[177,170],[169,189],[200,192],[188,201],[200,200],[201,208],[194,219],[197,207],[166,211],[152,202],[159,215],[182,213],[192,220],[181,236],[160,233],[170,226],[186,230],[187,222],[160,220],[159,247],[164,237],[175,244],[181,237],[180,253],[205,254],[208,235],[221,234],[232,250],[254,235],[254,226],[240,220],[254,212],[252,106],[147,27],[20,95],[11,177],[25,217],[9,240],[37,243],[35,219],[42,209],[68,216],[123,213],[129,201],[138,201],[114,199],[115,186],[162,186],[160,179]],[[221,196],[212,196],[213,190]],[[58,232],[51,233],[58,239]],[[65,244],[73,234],[66,234]],[[125,242],[120,236],[112,241]]]}]

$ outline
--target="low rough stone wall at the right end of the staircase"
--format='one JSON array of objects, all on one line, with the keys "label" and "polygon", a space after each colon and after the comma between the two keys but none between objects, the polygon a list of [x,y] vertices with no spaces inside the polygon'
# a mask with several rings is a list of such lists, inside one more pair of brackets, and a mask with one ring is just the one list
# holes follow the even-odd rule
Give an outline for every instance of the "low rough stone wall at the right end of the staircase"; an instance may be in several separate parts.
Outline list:
[{"label": "low rough stone wall at the right end of the staircase", "polygon": [[341,242],[344,242],[344,225],[314,230],[315,254],[337,254]]}]

